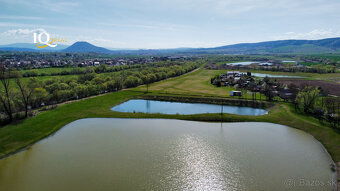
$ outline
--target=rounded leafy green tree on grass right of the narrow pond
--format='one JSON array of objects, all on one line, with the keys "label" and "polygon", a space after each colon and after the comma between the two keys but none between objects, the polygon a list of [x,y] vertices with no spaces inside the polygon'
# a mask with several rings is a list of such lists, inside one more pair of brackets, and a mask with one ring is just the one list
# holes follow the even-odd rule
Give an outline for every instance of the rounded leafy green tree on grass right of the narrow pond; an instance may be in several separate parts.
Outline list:
[{"label": "rounded leafy green tree on grass right of the narrow pond", "polygon": [[318,88],[306,86],[297,94],[296,102],[299,106],[302,106],[304,112],[311,113],[314,110],[315,102],[319,96],[319,92],[320,91]]}]

